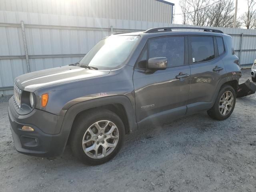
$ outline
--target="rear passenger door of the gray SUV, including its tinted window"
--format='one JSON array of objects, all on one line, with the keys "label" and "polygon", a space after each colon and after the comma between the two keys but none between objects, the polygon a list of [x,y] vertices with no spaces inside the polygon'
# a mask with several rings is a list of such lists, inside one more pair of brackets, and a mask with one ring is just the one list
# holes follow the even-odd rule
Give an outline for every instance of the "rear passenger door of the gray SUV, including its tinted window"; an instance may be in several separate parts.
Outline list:
[{"label": "rear passenger door of the gray SUV, including its tinted window", "polygon": [[221,60],[225,52],[222,36],[188,36],[188,42],[191,68],[189,114],[211,107],[218,83],[226,77],[226,70]]}]

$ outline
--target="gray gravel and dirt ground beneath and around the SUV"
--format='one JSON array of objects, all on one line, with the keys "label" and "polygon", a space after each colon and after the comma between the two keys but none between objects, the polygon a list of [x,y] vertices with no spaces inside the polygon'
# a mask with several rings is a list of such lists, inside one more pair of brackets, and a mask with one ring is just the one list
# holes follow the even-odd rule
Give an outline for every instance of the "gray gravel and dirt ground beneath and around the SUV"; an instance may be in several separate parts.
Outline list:
[{"label": "gray gravel and dirt ground beneath and around the SUV", "polygon": [[[240,82],[247,78],[243,70]],[[0,100],[0,191],[256,191],[256,94],[237,99],[225,121],[200,112],[128,135],[100,166],[76,161],[69,147],[54,159],[18,153],[7,100]]]}]

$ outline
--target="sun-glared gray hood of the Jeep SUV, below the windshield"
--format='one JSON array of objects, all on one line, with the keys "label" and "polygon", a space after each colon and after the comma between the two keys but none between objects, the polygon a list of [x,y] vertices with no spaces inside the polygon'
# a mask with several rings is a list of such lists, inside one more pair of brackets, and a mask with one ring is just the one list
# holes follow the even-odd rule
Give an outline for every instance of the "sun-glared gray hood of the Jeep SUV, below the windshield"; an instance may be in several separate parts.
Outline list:
[{"label": "sun-glared gray hood of the Jeep SUV, below the windshield", "polygon": [[90,70],[77,66],[63,66],[18,76],[14,83],[22,90],[34,92],[46,86],[107,75],[109,73],[110,70]]}]

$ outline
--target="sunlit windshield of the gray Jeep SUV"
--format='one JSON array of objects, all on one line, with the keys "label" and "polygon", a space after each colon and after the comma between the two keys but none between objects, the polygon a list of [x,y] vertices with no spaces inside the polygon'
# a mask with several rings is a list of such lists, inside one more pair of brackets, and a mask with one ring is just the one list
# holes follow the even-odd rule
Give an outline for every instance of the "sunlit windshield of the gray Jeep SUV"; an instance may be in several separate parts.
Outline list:
[{"label": "sunlit windshield of the gray Jeep SUV", "polygon": [[110,36],[98,42],[79,62],[102,70],[120,67],[138,42],[140,36]]}]

